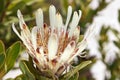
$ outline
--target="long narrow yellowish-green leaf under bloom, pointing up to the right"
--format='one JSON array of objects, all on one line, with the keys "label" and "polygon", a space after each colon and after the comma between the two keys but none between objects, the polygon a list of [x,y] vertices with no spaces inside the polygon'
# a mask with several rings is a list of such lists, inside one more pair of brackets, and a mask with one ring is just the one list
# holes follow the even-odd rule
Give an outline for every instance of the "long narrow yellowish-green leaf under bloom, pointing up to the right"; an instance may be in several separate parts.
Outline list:
[{"label": "long narrow yellowish-green leaf under bloom, pointing up to the right", "polygon": [[74,69],[70,70],[68,73],[66,73],[65,75],[63,75],[61,77],[62,80],[69,80],[73,75],[75,75],[79,70],[81,70],[82,68],[86,67],[88,64],[90,64],[91,61],[84,61],[81,64],[79,64],[78,66],[76,66]]}]

